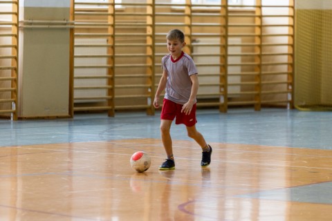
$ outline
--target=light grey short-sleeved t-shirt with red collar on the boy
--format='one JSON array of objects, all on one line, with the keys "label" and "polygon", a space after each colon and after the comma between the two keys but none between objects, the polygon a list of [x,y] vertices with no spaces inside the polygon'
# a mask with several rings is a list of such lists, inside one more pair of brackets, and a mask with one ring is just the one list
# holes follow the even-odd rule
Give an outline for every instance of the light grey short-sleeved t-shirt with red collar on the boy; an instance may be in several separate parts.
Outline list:
[{"label": "light grey short-sleeved t-shirt with red collar on the boy", "polygon": [[192,57],[182,52],[174,61],[171,55],[166,55],[161,59],[161,64],[168,73],[165,98],[176,104],[187,103],[192,91],[190,75],[198,74]]}]

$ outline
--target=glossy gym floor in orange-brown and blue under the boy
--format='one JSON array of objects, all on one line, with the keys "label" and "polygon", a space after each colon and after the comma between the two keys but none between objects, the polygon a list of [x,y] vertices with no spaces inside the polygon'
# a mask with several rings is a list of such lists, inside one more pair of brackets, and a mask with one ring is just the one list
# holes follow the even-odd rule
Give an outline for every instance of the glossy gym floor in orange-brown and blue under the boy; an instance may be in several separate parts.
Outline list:
[{"label": "glossy gym floor in orange-brown and blue under the boy", "polygon": [[0,220],[331,220],[331,113],[199,111],[212,163],[174,125],[174,171],[158,117],[0,121]]}]

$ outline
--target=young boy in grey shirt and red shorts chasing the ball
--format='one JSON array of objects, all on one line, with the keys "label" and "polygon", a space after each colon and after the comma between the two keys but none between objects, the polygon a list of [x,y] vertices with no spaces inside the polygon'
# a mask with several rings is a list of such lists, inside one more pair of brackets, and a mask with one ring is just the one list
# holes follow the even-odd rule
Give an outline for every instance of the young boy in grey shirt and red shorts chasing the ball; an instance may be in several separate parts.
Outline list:
[{"label": "young boy in grey shirt and red shorts chasing the ball", "polygon": [[171,124],[185,124],[187,135],[202,148],[201,166],[209,166],[212,148],[205,142],[199,131],[196,131],[196,94],[199,90],[199,79],[192,58],[182,51],[185,46],[185,35],[181,30],[170,30],[166,36],[169,55],[162,59],[163,75],[159,81],[154,107],[159,108],[160,93],[165,89],[163,109],[160,114],[161,140],[167,154],[167,160],[159,166],[160,170],[175,169],[175,162],[170,136]]}]

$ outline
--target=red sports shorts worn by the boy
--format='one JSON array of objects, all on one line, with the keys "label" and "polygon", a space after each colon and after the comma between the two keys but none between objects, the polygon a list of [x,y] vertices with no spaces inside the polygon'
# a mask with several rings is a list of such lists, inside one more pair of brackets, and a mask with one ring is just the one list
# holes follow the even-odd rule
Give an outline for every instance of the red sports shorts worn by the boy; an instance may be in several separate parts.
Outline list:
[{"label": "red sports shorts worn by the boy", "polygon": [[194,126],[197,123],[196,104],[192,106],[192,112],[190,112],[190,115],[185,115],[185,113],[181,113],[182,106],[182,104],[176,104],[169,99],[164,99],[160,119],[174,120],[174,118],[176,117],[175,124]]}]

